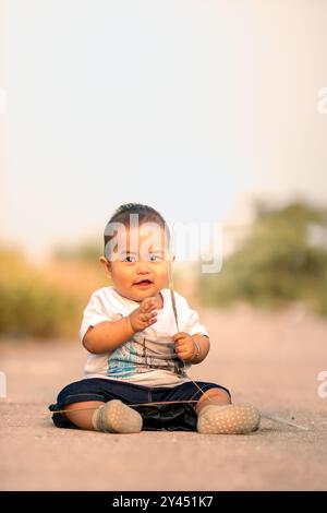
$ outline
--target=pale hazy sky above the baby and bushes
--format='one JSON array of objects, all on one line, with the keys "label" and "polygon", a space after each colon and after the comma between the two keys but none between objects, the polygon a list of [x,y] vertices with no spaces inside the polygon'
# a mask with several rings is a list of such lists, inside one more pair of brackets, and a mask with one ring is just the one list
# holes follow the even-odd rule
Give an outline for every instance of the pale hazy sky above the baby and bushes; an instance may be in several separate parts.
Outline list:
[{"label": "pale hazy sky above the baby and bushes", "polygon": [[0,0],[0,243],[44,259],[131,201],[326,205],[326,26],[325,0]]}]

